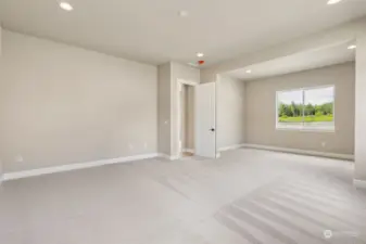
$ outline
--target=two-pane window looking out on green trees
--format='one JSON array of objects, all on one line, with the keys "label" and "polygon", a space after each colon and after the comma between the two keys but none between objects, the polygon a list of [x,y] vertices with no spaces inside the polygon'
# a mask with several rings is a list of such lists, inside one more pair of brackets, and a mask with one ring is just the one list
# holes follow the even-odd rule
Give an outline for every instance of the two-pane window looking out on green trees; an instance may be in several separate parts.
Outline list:
[{"label": "two-pane window looking out on green trees", "polygon": [[335,130],[335,87],[277,92],[277,129]]}]

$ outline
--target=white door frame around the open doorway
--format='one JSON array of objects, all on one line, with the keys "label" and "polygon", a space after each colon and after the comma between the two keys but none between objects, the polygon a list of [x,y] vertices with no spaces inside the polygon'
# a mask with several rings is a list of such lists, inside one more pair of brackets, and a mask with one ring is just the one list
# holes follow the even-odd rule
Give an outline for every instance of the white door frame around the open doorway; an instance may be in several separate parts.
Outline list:
[{"label": "white door frame around the open doorway", "polygon": [[[181,153],[182,153],[182,145],[181,145],[181,97],[180,97],[180,91],[184,88],[184,86],[191,86],[193,87],[193,89],[199,86],[200,84],[194,82],[194,81],[190,81],[190,80],[186,80],[186,79],[177,79],[177,89],[176,89],[176,98],[177,99],[177,106],[176,106],[176,115],[177,115],[177,123],[176,123],[176,128],[175,130],[177,131],[177,141],[175,142],[178,145],[178,149],[180,150],[180,152],[178,152],[178,158],[181,158]],[[193,92],[195,93],[195,89],[193,90]],[[195,114],[195,106],[193,106],[193,114]],[[194,120],[195,123],[195,120]],[[194,140],[195,140],[195,131],[194,131]]]}]

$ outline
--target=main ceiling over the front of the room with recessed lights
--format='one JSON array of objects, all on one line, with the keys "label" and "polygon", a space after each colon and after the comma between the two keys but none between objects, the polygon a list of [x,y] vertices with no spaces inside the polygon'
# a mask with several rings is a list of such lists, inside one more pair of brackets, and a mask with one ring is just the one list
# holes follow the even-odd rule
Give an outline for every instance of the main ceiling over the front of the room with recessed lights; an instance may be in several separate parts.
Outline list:
[{"label": "main ceiling over the front of the room with recessed lights", "polygon": [[[261,50],[366,14],[366,1],[343,0],[0,0],[2,26],[87,49],[160,64],[206,65]],[[189,15],[179,17],[178,11]]]}]

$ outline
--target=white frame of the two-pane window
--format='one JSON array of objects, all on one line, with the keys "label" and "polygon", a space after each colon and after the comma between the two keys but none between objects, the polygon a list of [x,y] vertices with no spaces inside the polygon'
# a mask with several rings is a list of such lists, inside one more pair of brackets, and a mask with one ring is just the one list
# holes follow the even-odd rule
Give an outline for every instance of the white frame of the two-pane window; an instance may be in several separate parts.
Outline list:
[{"label": "white frame of the two-pane window", "polygon": [[[308,90],[316,90],[316,89],[323,89],[323,88],[333,88],[333,126],[329,129],[326,129],[324,127],[307,127],[307,126],[280,126],[279,118],[278,118],[278,95],[282,92],[289,92],[289,91],[302,91],[302,104],[305,105],[305,91]],[[304,123],[304,110],[302,112],[303,121]],[[287,90],[280,90],[276,91],[276,130],[295,130],[295,131],[310,131],[310,132],[336,132],[336,85],[324,85],[324,86],[315,86],[315,87],[305,87],[305,88],[293,88],[293,89],[287,89]]]}]

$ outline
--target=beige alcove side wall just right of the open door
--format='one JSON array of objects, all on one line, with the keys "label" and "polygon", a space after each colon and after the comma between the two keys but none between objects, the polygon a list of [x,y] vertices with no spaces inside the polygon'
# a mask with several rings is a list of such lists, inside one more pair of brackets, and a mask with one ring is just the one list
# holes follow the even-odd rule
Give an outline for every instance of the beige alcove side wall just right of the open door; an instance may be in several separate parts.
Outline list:
[{"label": "beige alcove side wall just right of the open door", "polygon": [[220,75],[216,88],[217,149],[244,143],[245,82]]}]

